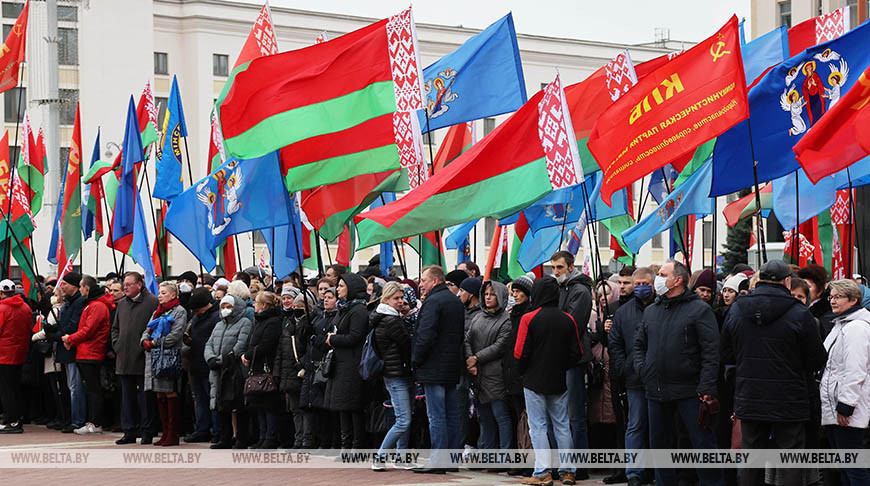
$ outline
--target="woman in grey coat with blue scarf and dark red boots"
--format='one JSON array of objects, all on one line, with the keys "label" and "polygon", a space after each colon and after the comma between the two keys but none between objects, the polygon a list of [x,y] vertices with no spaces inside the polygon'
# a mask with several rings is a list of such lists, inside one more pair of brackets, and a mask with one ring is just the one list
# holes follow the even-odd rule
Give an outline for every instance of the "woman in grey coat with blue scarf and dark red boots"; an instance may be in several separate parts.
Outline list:
[{"label": "woman in grey coat with blue scarf and dark red boots", "polygon": [[[157,410],[163,425],[163,435],[154,442],[156,446],[178,445],[178,428],[181,419],[181,370],[175,378],[153,376],[152,350],[181,349],[184,329],[187,327],[187,311],[178,300],[178,286],[163,282],[157,293],[159,305],[145,327],[140,343],[145,348],[145,391],[157,394]],[[179,363],[180,364],[180,363]]]}]

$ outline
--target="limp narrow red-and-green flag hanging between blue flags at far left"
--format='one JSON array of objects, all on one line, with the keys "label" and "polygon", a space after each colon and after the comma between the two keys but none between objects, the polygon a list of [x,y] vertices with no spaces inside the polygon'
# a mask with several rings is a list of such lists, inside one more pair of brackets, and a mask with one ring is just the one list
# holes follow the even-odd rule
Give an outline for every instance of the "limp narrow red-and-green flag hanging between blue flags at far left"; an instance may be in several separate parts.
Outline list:
[{"label": "limp narrow red-and-green flag hanging between blue flags at far left", "polygon": [[63,192],[63,210],[60,220],[60,236],[66,254],[75,258],[82,247],[82,128],[81,113],[76,106],[69,147],[69,162],[66,168],[66,185]]}]

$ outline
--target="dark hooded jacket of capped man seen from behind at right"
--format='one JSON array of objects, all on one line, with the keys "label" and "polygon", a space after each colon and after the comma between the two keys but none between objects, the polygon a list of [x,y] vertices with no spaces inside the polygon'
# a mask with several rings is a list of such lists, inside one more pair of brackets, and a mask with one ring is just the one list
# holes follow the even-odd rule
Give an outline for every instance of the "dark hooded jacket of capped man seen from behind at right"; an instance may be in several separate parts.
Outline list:
[{"label": "dark hooded jacket of capped man seen from behind at right", "polygon": [[741,420],[810,419],[807,377],[825,365],[825,348],[810,310],[784,285],[759,282],[728,310],[722,363],[736,365],[734,412]]}]

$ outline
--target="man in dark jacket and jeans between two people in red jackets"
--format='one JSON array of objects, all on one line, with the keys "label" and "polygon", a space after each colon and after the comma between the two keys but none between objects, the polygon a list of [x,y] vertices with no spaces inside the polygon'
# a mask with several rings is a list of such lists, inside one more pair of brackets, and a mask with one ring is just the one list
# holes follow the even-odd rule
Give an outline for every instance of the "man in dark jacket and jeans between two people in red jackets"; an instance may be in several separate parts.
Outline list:
[{"label": "man in dark jacket and jeans between two people in red jackets", "polygon": [[63,307],[60,308],[56,329],[47,328],[46,337],[50,341],[57,341],[55,347],[55,361],[62,365],[66,375],[66,385],[70,396],[70,423],[64,426],[62,432],[70,434],[85,425],[85,413],[87,412],[87,399],[85,397],[85,385],[81,372],[76,364],[75,347],[67,348],[61,338],[67,334],[75,334],[79,329],[79,320],[82,317],[82,309],[85,307],[85,298],[79,292],[79,284],[82,276],[76,272],[67,272],[58,282],[60,291],[64,296]]}]

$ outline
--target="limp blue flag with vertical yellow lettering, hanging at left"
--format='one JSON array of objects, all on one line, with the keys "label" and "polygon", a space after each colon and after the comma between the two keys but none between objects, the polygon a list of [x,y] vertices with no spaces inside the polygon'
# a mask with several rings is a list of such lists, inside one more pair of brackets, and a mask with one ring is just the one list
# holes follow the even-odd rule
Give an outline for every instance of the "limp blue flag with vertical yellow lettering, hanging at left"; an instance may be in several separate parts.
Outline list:
[{"label": "limp blue flag with vertical yellow lettering, hanging at left", "polygon": [[160,150],[157,151],[157,176],[154,180],[154,197],[171,201],[184,190],[181,172],[181,137],[187,136],[184,122],[184,108],[181,106],[181,93],[178,79],[172,76],[172,89],[166,115],[163,117],[163,131],[160,135]]}]

